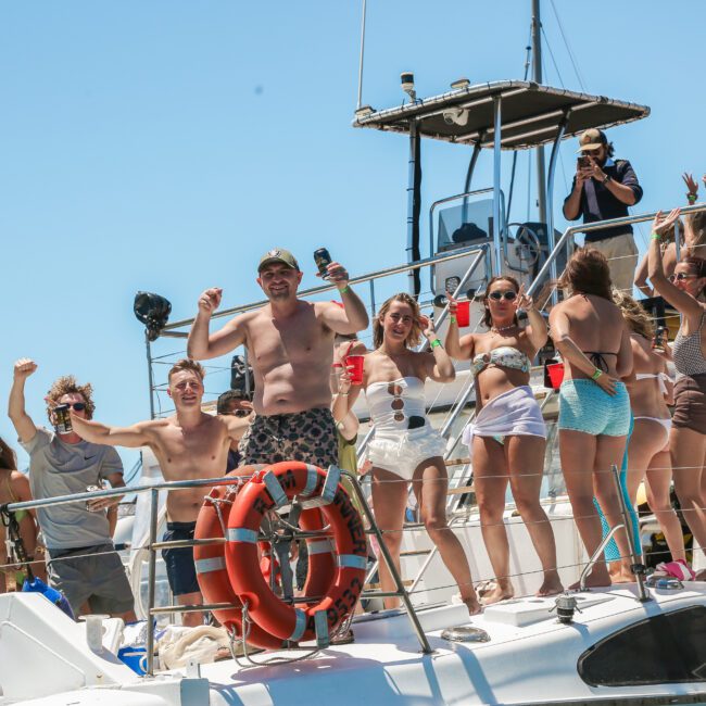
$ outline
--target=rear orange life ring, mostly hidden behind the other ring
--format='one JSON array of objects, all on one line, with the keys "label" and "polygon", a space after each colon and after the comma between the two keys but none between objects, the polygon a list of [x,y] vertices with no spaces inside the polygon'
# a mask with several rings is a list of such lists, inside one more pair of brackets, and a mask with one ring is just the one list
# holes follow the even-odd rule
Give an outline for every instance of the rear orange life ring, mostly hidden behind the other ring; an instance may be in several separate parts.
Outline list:
[{"label": "rear orange life ring, mostly hidden behind the other ring", "polygon": [[[254,472],[254,468],[243,466],[228,475],[234,476],[234,482],[237,482],[237,476],[252,476]],[[193,531],[194,539],[223,539],[223,528],[227,526],[228,515],[238,490],[234,490],[231,486],[216,486],[211,490],[199,512]],[[218,517],[218,508],[220,517]],[[197,580],[204,603],[230,603],[238,606],[213,610],[213,615],[227,630],[235,630],[237,635],[242,635],[242,604],[230,585],[223,547],[222,543],[197,544],[193,547]],[[256,625],[253,625],[250,630],[248,643],[265,650],[282,647],[282,640],[274,638]]]}]

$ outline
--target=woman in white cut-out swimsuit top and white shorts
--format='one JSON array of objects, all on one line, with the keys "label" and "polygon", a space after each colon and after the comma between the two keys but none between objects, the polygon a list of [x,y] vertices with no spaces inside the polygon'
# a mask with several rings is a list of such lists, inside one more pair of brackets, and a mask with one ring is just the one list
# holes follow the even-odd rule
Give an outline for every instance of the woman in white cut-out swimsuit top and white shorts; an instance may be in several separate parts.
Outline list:
[{"label": "woman in white cut-out swimsuit top and white shorts", "polygon": [[[412,350],[423,333],[430,343],[428,353]],[[368,445],[375,519],[384,532],[384,543],[398,570],[407,488],[412,482],[421,520],[458,584],[462,601],[470,615],[475,615],[481,608],[468,559],[446,522],[449,478],[443,462],[446,444],[425,414],[425,380],[453,380],[453,363],[431,320],[419,314],[419,305],[406,293],[395,294],[382,304],[373,322],[373,342],[375,350],[365,356],[363,384],[351,387],[348,395],[338,394],[333,416],[342,418],[354,405],[361,389],[365,390],[375,427],[375,438]],[[341,375],[341,380],[350,380],[348,371]],[[383,562],[380,563],[380,584],[383,591],[394,591]],[[396,607],[399,600],[384,598],[384,605]]]}]

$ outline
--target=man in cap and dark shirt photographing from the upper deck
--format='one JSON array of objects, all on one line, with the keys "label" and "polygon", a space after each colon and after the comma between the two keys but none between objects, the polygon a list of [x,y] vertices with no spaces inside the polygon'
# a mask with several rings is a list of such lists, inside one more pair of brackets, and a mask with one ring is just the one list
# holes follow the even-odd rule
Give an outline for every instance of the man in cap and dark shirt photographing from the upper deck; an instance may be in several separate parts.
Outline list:
[{"label": "man in cap and dark shirt photographing from the upper deck", "polygon": [[[642,199],[642,187],[627,160],[613,160],[613,143],[605,133],[591,128],[579,138],[579,157],[571,193],[564,201],[564,216],[595,223],[628,215],[628,206]],[[582,165],[581,162],[584,162]],[[601,228],[587,234],[585,244],[600,250],[610,266],[613,286],[632,293],[638,248],[632,226]]]}]

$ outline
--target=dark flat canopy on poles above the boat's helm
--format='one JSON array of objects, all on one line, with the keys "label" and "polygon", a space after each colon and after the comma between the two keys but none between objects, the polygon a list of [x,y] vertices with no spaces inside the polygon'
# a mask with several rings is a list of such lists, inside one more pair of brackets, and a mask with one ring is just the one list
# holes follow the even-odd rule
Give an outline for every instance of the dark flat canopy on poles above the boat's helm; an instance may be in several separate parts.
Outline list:
[{"label": "dark flat canopy on poles above the boat's helm", "polygon": [[646,105],[605,96],[577,93],[533,81],[502,80],[466,86],[382,111],[365,106],[356,111],[353,126],[408,135],[411,125],[415,125],[420,137],[492,148],[493,105],[499,98],[503,150],[524,150],[554,142],[565,121],[563,138],[591,127],[605,129],[650,115]]}]

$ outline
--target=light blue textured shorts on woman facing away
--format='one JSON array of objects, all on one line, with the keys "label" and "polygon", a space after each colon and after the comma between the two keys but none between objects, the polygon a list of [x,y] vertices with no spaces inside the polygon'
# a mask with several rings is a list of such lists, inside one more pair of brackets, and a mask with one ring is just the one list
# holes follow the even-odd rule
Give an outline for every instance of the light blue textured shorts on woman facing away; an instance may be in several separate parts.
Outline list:
[{"label": "light blue textured shorts on woman facing away", "polygon": [[630,398],[622,382],[609,395],[593,380],[566,380],[559,388],[559,429],[593,437],[625,437],[630,430]]}]

